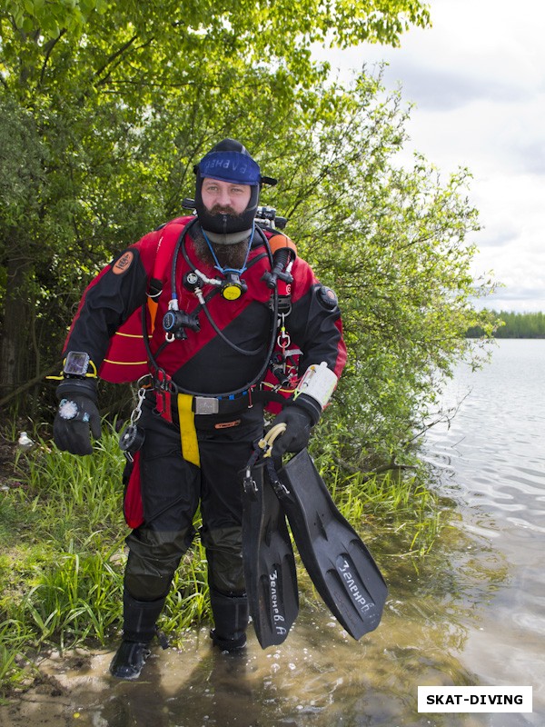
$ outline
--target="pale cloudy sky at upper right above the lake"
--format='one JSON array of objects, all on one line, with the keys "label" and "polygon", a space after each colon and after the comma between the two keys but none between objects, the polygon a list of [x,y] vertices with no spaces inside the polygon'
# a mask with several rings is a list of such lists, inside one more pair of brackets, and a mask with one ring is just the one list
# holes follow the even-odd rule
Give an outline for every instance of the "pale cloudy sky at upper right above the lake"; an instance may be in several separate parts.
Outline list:
[{"label": "pale cloudy sky at upper right above the lake", "polygon": [[429,0],[433,27],[401,48],[364,45],[327,57],[342,75],[385,60],[388,88],[415,104],[411,148],[447,175],[473,174],[484,229],[475,275],[505,287],[481,305],[545,312],[545,13],[543,0]]}]

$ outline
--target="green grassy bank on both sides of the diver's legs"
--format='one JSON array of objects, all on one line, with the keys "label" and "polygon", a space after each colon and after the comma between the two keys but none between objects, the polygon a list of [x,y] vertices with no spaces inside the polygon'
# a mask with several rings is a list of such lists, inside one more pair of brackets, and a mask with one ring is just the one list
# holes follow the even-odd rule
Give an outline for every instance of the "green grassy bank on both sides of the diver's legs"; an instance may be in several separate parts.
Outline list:
[{"label": "green grassy bank on both sides of the diver's legs", "polygon": [[[39,679],[35,655],[48,648],[105,645],[121,628],[124,572],[123,455],[104,434],[93,456],[74,457],[38,442],[19,453],[0,493],[0,690]],[[418,476],[343,476],[317,465],[340,510],[381,561],[395,533],[400,554],[428,552],[440,528],[435,496]],[[396,545],[397,547],[397,545]],[[386,577],[387,577],[386,573]],[[302,579],[303,587],[305,579]],[[308,587],[308,586],[307,586]],[[184,558],[161,627],[175,641],[210,618],[200,540]],[[312,593],[309,594],[312,597]]]}]

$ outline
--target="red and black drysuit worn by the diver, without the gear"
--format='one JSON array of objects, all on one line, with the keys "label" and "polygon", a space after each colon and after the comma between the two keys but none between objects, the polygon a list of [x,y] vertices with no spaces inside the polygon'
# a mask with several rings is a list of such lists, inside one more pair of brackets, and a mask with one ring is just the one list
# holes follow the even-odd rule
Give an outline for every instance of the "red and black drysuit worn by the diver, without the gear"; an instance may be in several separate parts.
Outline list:
[{"label": "red and black drysuit worn by the diver, without the gear", "polygon": [[[271,270],[271,262],[262,231],[256,229],[254,234],[242,275],[247,291],[238,300],[225,300],[213,286],[203,286],[208,314],[224,338],[253,354],[242,354],[226,343],[214,330],[194,292],[183,285],[185,275],[195,267],[209,278],[218,276],[217,270],[194,253],[192,235],[199,234],[198,223],[184,234],[175,280],[180,310],[195,313],[200,330],[186,330],[184,340],[165,344],[161,322],[173,297],[173,255],[160,280],[154,278],[156,259],[161,245],[173,248],[173,241],[190,219],[173,220],[146,234],[94,278],[84,292],[64,354],[86,352],[100,370],[104,358],[107,361],[111,338],[152,294],[157,310],[150,348],[156,364],[172,377],[173,384],[185,392],[213,396],[240,391],[253,382],[263,370],[271,341],[272,291],[262,279]],[[301,258],[295,259],[291,273],[291,312],[285,323],[292,341],[302,351],[300,373],[310,364],[324,361],[339,376],[346,358],[339,309]],[[148,326],[151,328],[149,314]],[[117,380],[123,378],[118,376]],[[134,376],[128,375],[125,380],[131,378]],[[223,630],[231,630],[232,637],[245,628],[240,473],[252,453],[253,442],[263,436],[263,403],[256,403],[255,398],[252,392],[237,394],[235,403],[227,399],[228,413],[220,408],[218,414],[194,415],[198,466],[183,457],[175,405],[165,417],[157,413],[157,403],[161,409],[163,400],[156,399],[153,391],[146,397],[138,422],[144,429],[144,444],[137,458],[144,522],[126,540],[130,553],[124,579],[125,637],[128,634],[134,640],[145,641],[153,635],[148,633],[149,627],[161,611],[183,553],[192,543],[193,516],[199,502],[216,630],[223,623]],[[172,422],[168,421],[170,413]],[[135,603],[146,604],[148,615],[127,619]]]}]

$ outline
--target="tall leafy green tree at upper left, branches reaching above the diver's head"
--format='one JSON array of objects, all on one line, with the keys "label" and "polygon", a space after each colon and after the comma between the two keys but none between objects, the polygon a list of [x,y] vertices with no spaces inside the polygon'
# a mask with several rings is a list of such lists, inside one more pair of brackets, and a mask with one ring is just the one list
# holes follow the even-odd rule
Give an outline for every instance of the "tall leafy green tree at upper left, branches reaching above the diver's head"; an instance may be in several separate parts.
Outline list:
[{"label": "tall leafy green tree at upper left, branches reaching above the diver's head", "polygon": [[2,392],[54,363],[84,282],[178,212],[213,138],[257,120],[273,144],[312,104],[312,43],[397,45],[411,24],[418,0],[0,0]]}]

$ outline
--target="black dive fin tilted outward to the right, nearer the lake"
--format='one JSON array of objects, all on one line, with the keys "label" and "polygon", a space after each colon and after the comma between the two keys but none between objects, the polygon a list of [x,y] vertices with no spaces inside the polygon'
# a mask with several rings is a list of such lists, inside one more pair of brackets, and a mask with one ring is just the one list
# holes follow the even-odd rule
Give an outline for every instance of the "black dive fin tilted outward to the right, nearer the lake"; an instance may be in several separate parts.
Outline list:
[{"label": "black dive fin tilted outward to the right, nearer the lake", "polygon": [[306,449],[278,473],[267,467],[302,563],[335,618],[354,639],[381,621],[388,589],[371,553],[337,510]]}]

